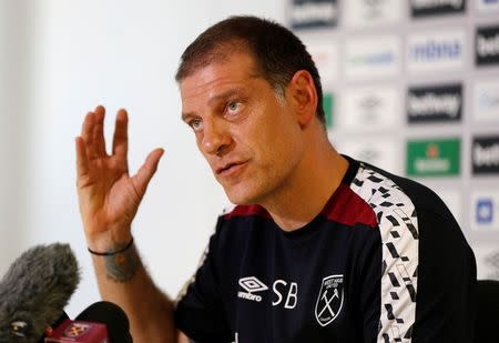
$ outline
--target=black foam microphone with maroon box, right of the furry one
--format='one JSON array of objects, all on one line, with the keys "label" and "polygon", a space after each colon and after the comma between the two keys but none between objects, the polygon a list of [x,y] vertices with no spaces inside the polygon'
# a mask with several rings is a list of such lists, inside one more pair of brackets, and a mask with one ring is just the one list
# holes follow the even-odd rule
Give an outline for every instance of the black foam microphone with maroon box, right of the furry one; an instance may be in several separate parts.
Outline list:
[{"label": "black foam microphone with maroon box, right of the furry one", "polygon": [[101,301],[86,307],[74,321],[64,321],[45,343],[132,343],[130,323],[120,306]]}]

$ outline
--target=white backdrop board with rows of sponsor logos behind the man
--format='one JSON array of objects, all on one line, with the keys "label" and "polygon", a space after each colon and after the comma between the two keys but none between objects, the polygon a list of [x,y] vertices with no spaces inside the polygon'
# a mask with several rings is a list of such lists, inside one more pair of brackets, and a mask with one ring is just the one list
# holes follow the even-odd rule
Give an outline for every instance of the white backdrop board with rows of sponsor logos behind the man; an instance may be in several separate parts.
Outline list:
[{"label": "white backdrop board with rows of sponsor logos behind the man", "polygon": [[288,0],[343,153],[434,189],[499,280],[499,0]]}]

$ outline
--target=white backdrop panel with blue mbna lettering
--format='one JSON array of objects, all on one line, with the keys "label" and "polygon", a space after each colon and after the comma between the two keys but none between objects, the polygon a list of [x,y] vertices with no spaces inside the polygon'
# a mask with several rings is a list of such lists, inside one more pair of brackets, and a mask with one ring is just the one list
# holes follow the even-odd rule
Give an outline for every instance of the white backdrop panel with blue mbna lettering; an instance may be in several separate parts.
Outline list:
[{"label": "white backdrop panel with blue mbna lettering", "polygon": [[465,39],[464,29],[409,36],[407,69],[413,73],[462,69],[466,51]]}]

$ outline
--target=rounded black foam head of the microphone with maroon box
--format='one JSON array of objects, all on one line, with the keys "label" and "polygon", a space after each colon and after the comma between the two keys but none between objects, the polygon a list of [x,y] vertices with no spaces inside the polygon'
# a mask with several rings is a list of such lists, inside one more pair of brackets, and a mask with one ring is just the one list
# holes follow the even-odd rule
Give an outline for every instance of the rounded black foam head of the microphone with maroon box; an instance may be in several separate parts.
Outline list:
[{"label": "rounded black foam head of the microphone with maroon box", "polygon": [[80,313],[75,321],[102,323],[108,327],[110,343],[132,343],[130,322],[125,312],[116,304],[100,301]]}]

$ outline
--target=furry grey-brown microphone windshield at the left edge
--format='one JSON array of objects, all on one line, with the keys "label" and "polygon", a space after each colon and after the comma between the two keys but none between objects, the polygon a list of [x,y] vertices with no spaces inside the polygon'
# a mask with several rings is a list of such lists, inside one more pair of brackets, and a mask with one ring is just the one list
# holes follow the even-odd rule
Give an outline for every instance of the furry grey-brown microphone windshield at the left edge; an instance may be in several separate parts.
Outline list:
[{"label": "furry grey-brown microphone windshield at the left edge", "polygon": [[33,343],[67,317],[80,282],[69,244],[37,245],[21,254],[0,281],[0,343]]}]

